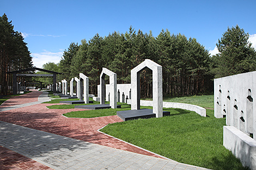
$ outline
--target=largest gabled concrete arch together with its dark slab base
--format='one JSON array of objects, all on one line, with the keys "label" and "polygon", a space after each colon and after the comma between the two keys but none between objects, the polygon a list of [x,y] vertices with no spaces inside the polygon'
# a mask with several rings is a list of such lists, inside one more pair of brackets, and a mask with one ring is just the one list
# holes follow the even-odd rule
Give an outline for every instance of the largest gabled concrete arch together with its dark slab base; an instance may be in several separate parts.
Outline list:
[{"label": "largest gabled concrete arch together with its dark slab base", "polygon": [[[141,91],[139,85],[139,74],[145,68],[149,68],[153,71],[153,110],[140,110]],[[123,121],[170,115],[170,112],[163,111],[162,66],[154,61],[145,59],[145,61],[131,70],[131,110],[117,111],[117,115],[123,119]]]}]

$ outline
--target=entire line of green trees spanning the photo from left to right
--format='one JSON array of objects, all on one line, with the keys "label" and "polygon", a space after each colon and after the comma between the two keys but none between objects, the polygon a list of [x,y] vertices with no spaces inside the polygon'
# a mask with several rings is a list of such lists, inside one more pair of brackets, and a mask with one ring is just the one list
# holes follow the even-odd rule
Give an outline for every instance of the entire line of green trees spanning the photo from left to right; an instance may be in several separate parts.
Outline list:
[{"label": "entire line of green trees spanning the photo from left to right", "polygon": [[[32,67],[32,58],[21,33],[15,32],[4,14],[0,17],[1,92],[10,91],[11,75],[5,72]],[[89,77],[89,92],[97,94],[102,67],[117,73],[117,83],[131,83],[131,70],[145,59],[162,66],[163,95],[201,95],[213,92],[213,79],[256,70],[256,52],[248,42],[249,34],[239,26],[228,27],[216,46],[219,54],[209,51],[196,39],[171,34],[168,29],[154,37],[136,31],[132,26],[126,33],[113,32],[107,36],[95,34],[81,44],[71,42],[58,64],[48,62],[46,70],[63,73],[58,81]],[[40,72],[38,72],[40,73]],[[52,80],[33,78],[52,84]],[[19,80],[18,80],[19,81]],[[152,97],[152,73],[141,73],[141,97]]]}]

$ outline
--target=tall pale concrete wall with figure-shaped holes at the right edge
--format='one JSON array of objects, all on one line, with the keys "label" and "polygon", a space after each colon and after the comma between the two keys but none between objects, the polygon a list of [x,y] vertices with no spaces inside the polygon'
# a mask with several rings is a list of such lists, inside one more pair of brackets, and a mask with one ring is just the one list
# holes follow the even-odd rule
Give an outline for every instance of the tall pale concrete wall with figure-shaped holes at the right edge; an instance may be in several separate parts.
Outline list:
[{"label": "tall pale concrete wall with figure-shaped holes at the right edge", "polygon": [[214,80],[214,116],[226,117],[227,124],[224,127],[223,144],[241,159],[243,165],[252,169],[256,169],[255,95],[256,72]]}]

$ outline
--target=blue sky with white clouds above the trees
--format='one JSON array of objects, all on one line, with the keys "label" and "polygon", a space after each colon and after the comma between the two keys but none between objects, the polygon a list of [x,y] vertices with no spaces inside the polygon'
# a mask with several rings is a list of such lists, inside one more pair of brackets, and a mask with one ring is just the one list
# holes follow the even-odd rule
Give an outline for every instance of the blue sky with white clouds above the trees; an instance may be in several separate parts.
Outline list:
[{"label": "blue sky with white clouds above the trees", "polygon": [[212,54],[228,27],[239,25],[256,48],[256,1],[36,1],[1,0],[0,15],[7,14],[21,32],[33,64],[59,62],[71,42],[90,40],[96,33],[125,33],[132,26],[156,37],[162,29],[194,37]]}]

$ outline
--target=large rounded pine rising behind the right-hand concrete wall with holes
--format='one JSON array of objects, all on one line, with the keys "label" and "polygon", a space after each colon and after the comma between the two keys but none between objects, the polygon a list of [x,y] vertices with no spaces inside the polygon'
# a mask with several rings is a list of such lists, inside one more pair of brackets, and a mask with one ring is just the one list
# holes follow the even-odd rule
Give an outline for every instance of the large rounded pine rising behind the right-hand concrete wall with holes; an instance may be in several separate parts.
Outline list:
[{"label": "large rounded pine rising behind the right-hand concrete wall with holes", "polygon": [[249,34],[237,25],[222,35],[216,44],[220,54],[212,57],[215,78],[255,71],[256,52],[248,38]]}]

